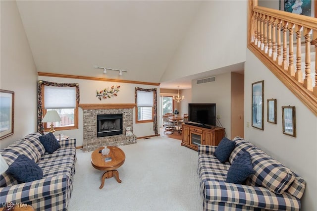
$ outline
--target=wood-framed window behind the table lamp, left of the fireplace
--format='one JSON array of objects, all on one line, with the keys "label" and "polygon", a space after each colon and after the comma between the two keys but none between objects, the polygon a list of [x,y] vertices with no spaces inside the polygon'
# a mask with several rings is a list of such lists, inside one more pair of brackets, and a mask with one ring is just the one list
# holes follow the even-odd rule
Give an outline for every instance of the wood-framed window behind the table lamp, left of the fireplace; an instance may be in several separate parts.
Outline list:
[{"label": "wood-framed window behind the table lamp, left of the fireplace", "polygon": [[[42,84],[43,116],[48,110],[56,110],[61,121],[53,122],[55,130],[78,129],[78,104],[76,86],[46,86]],[[51,128],[51,122],[44,124],[45,131]]]}]

